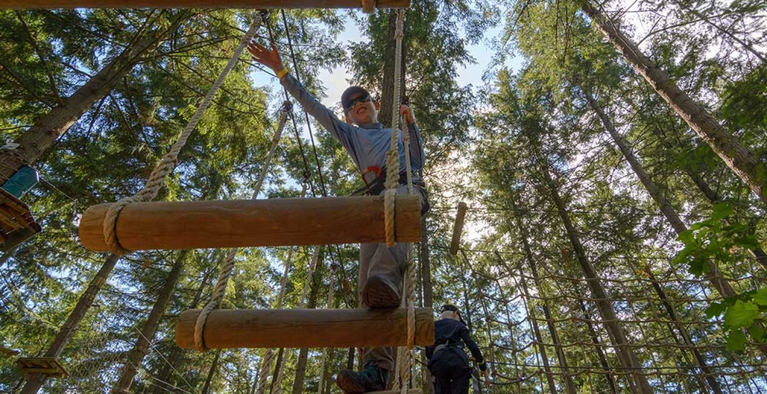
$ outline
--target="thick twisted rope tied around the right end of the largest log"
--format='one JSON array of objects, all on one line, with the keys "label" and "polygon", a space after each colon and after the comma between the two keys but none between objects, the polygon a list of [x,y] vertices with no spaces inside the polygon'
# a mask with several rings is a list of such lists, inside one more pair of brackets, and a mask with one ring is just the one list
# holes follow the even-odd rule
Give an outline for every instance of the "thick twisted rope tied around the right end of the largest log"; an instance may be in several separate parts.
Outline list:
[{"label": "thick twisted rope tied around the right end of the largest log", "polygon": [[400,149],[397,134],[397,120],[400,118],[400,80],[402,80],[402,38],[405,11],[397,10],[397,29],[394,38],[397,40],[397,50],[394,52],[394,92],[391,110],[391,140],[387,152],[386,192],[384,194],[384,229],[386,245],[392,247],[394,241],[394,199],[397,197],[397,186],[400,182]]}]

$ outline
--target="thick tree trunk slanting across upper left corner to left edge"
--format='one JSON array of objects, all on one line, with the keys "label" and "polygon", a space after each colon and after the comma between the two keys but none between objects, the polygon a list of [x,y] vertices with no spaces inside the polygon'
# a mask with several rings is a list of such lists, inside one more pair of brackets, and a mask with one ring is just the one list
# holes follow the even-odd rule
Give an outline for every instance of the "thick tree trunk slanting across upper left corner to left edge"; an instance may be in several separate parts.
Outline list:
[{"label": "thick tree trunk slanting across upper left corner to left edge", "polygon": [[[166,11],[161,11],[159,18],[165,18]],[[146,52],[179,27],[189,17],[190,11],[179,11],[171,18],[171,23],[154,31],[143,31],[114,60],[91,77],[74,94],[62,100],[51,112],[41,116],[25,133],[18,136],[14,143],[16,149],[0,149],[0,184],[10,178],[26,164],[35,163],[59,136],[67,130],[104,95],[109,93],[117,82],[130,73]]]}]

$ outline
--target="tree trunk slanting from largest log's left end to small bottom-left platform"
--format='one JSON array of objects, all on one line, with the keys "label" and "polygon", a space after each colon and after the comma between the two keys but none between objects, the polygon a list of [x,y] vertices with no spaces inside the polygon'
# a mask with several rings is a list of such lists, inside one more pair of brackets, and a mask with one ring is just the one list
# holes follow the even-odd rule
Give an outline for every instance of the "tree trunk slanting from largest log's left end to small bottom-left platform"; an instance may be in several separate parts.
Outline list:
[{"label": "tree trunk slanting from largest log's left end to small bottom-left platform", "polygon": [[[101,287],[104,287],[104,284],[107,283],[107,278],[119,259],[120,256],[117,254],[110,253],[109,256],[107,256],[104,265],[101,266],[96,276],[91,281],[91,284],[88,284],[83,295],[77,300],[77,304],[69,314],[69,317],[67,317],[67,322],[64,323],[64,326],[61,326],[61,330],[56,334],[53,343],[48,347],[48,351],[44,354],[45,357],[58,358],[58,356],[61,355],[61,352],[64,351],[64,346],[67,346],[67,342],[69,342],[69,339],[72,337],[74,330],[77,330],[77,327],[80,326],[83,317],[85,317],[88,309],[94,303],[96,295],[101,290]],[[21,389],[21,394],[37,393],[47,378],[48,376],[42,373],[33,374],[27,379],[27,383],[25,383],[24,387]]]}]

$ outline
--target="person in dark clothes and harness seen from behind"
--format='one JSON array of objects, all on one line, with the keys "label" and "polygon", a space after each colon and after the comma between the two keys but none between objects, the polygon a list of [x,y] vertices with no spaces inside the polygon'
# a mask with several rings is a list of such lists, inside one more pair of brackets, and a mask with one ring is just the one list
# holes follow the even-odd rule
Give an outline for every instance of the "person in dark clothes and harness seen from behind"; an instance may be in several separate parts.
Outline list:
[{"label": "person in dark clothes and harness seen from behind", "polygon": [[434,322],[434,345],[426,346],[429,370],[435,379],[436,394],[469,394],[471,367],[463,346],[469,347],[490,386],[487,363],[454,305],[443,305],[442,318]]}]

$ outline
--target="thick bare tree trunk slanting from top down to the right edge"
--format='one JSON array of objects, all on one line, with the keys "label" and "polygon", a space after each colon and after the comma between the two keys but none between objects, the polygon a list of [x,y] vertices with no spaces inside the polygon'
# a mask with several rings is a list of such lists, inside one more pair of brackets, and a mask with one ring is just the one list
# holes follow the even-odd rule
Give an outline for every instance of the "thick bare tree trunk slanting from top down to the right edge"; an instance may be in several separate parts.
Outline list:
[{"label": "thick bare tree trunk slanting from top down to the right edge", "polygon": [[665,100],[671,109],[705,141],[713,151],[749,186],[762,202],[767,203],[767,169],[749,149],[742,146],[720,125],[700,103],[696,103],[684,90],[670,79],[645,56],[630,38],[627,38],[613,22],[591,5],[590,0],[578,0],[597,28],[624,55],[639,74]]}]

